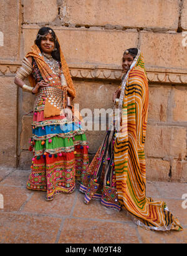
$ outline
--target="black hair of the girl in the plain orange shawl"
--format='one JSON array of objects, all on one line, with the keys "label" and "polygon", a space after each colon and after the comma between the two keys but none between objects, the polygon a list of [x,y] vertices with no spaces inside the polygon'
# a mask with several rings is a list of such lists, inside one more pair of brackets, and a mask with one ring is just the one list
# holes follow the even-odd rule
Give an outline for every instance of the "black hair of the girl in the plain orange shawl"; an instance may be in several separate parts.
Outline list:
[{"label": "black hair of the girl in the plain orange shawl", "polygon": [[52,51],[51,56],[60,62],[60,46],[53,29],[51,29],[50,27],[41,27],[41,29],[39,29],[39,31],[37,32],[37,37],[34,42],[42,52],[42,49],[41,49],[42,36],[45,36],[46,34],[48,34],[50,30],[52,31],[50,34],[54,38],[54,42],[55,42],[55,51]]}]

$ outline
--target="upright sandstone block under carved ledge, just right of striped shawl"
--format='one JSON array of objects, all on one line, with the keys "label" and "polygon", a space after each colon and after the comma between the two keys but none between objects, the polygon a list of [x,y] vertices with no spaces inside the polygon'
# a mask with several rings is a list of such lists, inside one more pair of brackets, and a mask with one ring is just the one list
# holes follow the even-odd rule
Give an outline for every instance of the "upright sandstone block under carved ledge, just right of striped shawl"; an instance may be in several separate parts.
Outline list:
[{"label": "upright sandstone block under carved ledge, just right of striped shawl", "polygon": [[165,122],[167,120],[170,86],[150,86],[148,120]]}]

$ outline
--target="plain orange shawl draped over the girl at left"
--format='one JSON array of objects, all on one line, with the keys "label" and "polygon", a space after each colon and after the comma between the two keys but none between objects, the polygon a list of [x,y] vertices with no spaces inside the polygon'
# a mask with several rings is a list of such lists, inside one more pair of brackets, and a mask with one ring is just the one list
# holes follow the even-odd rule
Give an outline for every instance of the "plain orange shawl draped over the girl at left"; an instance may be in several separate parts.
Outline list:
[{"label": "plain orange shawl draped over the girl at left", "polygon": [[[59,42],[58,38],[57,38],[57,41]],[[60,42],[59,42],[59,47],[60,47]],[[65,61],[64,54],[62,53],[61,47],[59,48],[59,51],[60,51],[61,69],[64,72],[64,76],[67,82],[67,88],[65,89],[67,90],[69,95],[72,97],[72,99],[74,99],[75,88],[70,76],[69,67],[67,66],[67,62]],[[39,67],[39,71],[41,72],[41,75],[44,78],[44,81],[48,82],[49,84],[51,84],[51,86],[53,86],[52,81],[49,78],[50,77],[54,78],[55,75],[53,74],[50,67],[44,61],[44,57],[42,56],[41,51],[36,44],[34,44],[31,47],[31,51],[27,53],[26,57],[34,57],[36,64]],[[57,79],[57,77],[55,77],[55,79]],[[32,87],[36,86],[36,82],[31,75],[29,76],[29,82],[31,83]],[[60,81],[59,81],[59,85],[60,85]]]}]

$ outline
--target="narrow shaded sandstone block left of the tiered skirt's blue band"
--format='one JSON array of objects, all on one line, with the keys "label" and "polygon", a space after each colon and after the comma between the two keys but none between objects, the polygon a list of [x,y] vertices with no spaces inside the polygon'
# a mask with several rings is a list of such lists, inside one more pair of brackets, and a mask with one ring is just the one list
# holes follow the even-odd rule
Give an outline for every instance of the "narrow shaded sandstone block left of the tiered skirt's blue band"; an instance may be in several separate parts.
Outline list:
[{"label": "narrow shaded sandstone block left of the tiered skirt's blue band", "polygon": [[24,116],[22,117],[22,130],[20,135],[20,147],[21,149],[28,150],[29,139],[32,136],[32,116]]}]

